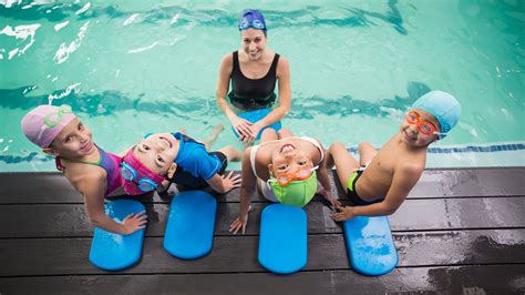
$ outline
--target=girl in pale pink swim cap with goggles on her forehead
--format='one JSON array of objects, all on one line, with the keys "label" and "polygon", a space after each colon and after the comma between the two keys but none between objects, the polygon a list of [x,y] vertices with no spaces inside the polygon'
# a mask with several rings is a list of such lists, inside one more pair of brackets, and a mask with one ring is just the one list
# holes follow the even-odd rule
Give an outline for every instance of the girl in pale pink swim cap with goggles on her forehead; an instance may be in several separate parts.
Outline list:
[{"label": "girl in pale pink swim cap with goggles on her forehead", "polygon": [[121,157],[93,143],[91,130],[73,114],[71,106],[39,105],[25,114],[21,126],[32,143],[55,157],[56,169],[84,197],[93,226],[119,234],[145,227],[145,212],[131,214],[122,223],[104,213],[104,196],[123,192]]}]

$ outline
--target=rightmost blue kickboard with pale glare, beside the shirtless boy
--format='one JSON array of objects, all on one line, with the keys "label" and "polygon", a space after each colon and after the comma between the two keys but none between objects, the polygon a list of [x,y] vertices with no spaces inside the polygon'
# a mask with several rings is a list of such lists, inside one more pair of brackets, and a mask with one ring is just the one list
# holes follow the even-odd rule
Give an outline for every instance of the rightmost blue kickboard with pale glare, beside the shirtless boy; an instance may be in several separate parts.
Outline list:
[{"label": "rightmost blue kickboard with pale glare, beside the shirtless boy", "polygon": [[398,265],[398,252],[387,216],[357,216],[343,222],[352,267],[363,275],[383,275]]}]

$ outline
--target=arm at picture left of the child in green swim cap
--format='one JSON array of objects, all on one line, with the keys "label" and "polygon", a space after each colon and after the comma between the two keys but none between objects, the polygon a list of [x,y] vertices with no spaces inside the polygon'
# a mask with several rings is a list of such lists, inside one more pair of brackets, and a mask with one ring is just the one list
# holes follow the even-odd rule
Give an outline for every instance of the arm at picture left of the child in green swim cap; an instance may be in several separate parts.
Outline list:
[{"label": "arm at picture left of the child in green swim cap", "polygon": [[245,150],[243,156],[243,184],[240,185],[240,204],[239,204],[239,217],[237,217],[230,225],[229,232],[237,234],[239,230],[243,230],[245,234],[246,224],[248,223],[248,212],[250,210],[250,199],[257,185],[257,177],[251,170],[251,162],[249,154],[251,148]]}]

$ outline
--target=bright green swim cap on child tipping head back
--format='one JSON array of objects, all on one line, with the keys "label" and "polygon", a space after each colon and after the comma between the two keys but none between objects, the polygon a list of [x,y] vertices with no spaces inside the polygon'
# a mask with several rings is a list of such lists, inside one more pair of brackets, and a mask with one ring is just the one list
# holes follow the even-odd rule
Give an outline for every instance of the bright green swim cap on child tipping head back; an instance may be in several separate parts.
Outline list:
[{"label": "bright green swim cap on child tipping head back", "polygon": [[269,184],[274,191],[274,195],[285,205],[295,207],[303,207],[308,204],[317,191],[317,174],[313,171],[310,177],[303,181],[292,181],[287,186],[280,186],[274,176],[270,177]]}]

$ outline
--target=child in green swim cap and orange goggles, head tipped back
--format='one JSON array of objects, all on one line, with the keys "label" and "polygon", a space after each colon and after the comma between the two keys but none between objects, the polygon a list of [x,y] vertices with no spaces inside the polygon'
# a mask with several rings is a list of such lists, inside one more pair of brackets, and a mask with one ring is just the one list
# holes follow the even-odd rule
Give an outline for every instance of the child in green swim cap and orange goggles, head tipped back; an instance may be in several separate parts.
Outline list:
[{"label": "child in green swim cap and orange goggles, head tipped back", "polygon": [[[330,182],[325,167],[325,149],[318,140],[295,138],[288,129],[277,133],[266,129],[260,144],[245,150],[243,156],[243,184],[240,208],[229,231],[245,233],[251,194],[255,187],[271,202],[302,207],[316,192],[332,205],[339,202],[330,196]],[[316,172],[317,170],[317,172]],[[322,190],[317,191],[317,181]]]}]

